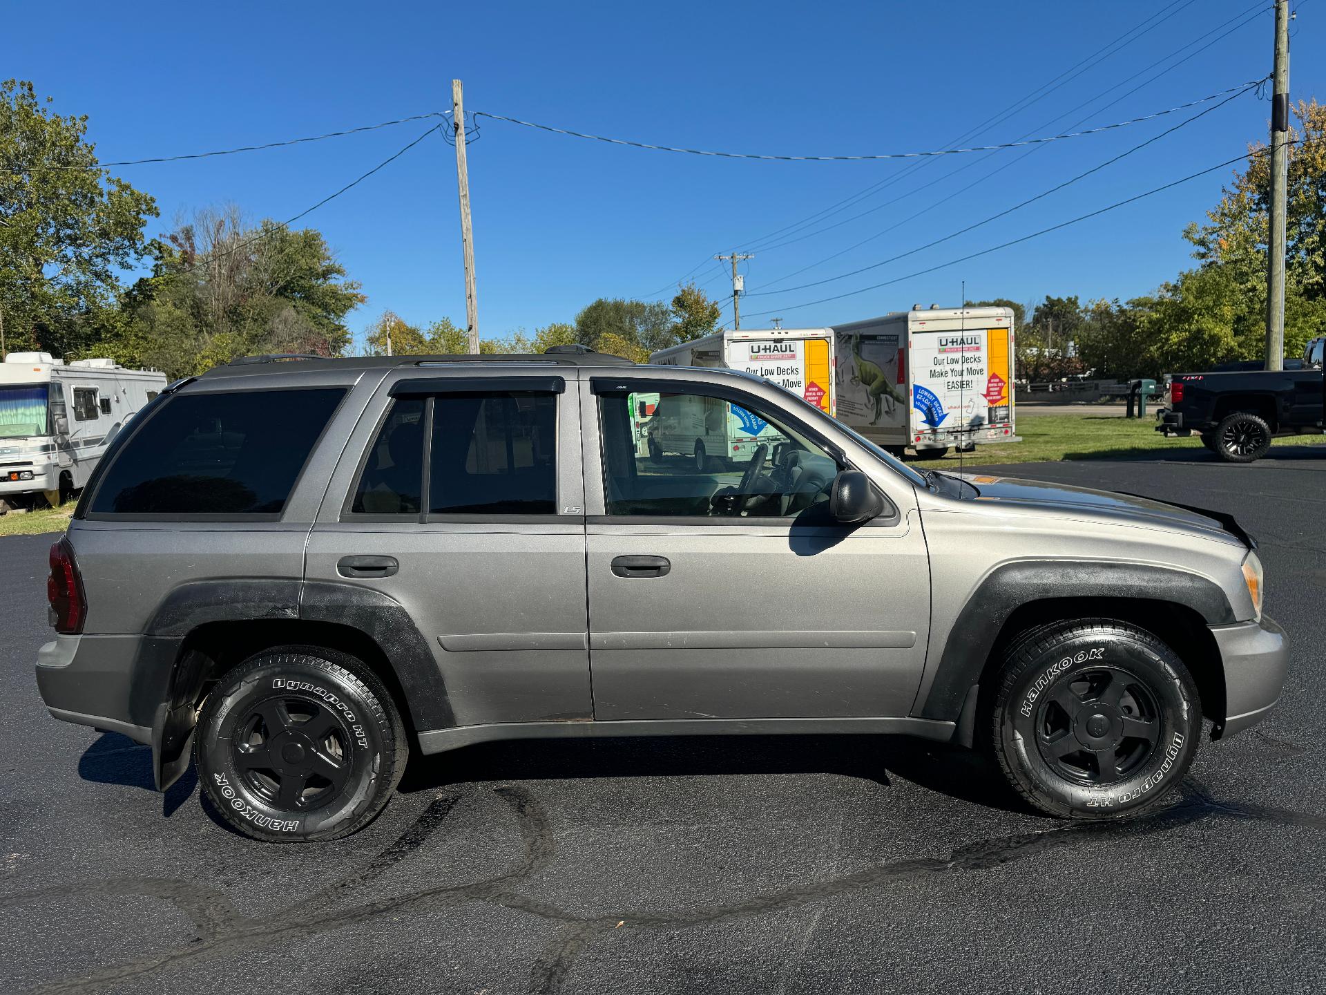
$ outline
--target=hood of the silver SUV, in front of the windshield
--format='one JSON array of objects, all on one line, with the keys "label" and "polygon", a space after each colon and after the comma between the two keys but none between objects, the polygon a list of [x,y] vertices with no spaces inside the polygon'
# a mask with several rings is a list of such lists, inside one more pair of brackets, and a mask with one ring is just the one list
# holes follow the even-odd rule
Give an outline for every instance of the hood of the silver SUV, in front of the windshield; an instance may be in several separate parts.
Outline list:
[{"label": "hood of the silver SUV, in front of the windshield", "polygon": [[1021,480],[1009,476],[964,474],[963,480],[976,488],[977,501],[1017,504],[1046,511],[1085,512],[1148,528],[1197,529],[1215,533],[1225,541],[1238,541],[1252,548],[1254,543],[1228,515],[1151,500],[1116,491],[1094,491],[1089,487],[1054,484],[1044,480]]}]

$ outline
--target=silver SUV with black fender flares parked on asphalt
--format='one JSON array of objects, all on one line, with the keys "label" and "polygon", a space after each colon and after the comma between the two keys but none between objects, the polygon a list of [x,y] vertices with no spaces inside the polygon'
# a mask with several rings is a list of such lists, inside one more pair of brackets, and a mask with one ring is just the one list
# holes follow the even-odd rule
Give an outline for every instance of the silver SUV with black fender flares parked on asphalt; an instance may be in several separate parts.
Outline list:
[{"label": "silver SUV with black fender flares parked on asphalt", "polygon": [[[556,736],[910,734],[1110,819],[1280,695],[1219,512],[916,472],[728,370],[282,358],[115,439],[37,662],[56,718],[151,744],[160,789],[192,755],[256,838],[359,829],[411,750]],[[659,407],[761,440],[651,452]]]}]

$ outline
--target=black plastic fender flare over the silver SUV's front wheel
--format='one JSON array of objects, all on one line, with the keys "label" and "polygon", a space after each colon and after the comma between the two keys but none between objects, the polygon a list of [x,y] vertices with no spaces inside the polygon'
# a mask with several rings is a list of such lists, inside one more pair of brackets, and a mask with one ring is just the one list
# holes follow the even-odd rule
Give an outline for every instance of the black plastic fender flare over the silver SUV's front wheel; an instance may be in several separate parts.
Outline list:
[{"label": "black plastic fender flare over the silver SUV's front wheel", "polygon": [[[994,568],[953,622],[935,679],[912,714],[957,720],[968,693],[980,681],[991,647],[1018,608],[1061,598],[1128,598],[1184,605],[1207,625],[1235,621],[1220,586],[1196,573],[1147,564],[1070,560],[1022,560]],[[1102,606],[1107,613],[1107,608]]]}]

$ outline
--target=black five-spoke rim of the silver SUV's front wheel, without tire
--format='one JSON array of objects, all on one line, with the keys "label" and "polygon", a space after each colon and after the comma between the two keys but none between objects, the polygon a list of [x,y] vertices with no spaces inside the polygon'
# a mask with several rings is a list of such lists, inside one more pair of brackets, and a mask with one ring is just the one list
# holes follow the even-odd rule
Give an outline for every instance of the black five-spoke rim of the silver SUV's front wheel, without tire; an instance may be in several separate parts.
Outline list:
[{"label": "black five-spoke rim of the silver SUV's front wheel, without tire", "polygon": [[1127,780],[1155,755],[1160,732],[1155,695],[1120,667],[1070,674],[1042,696],[1036,712],[1041,758],[1075,784]]}]

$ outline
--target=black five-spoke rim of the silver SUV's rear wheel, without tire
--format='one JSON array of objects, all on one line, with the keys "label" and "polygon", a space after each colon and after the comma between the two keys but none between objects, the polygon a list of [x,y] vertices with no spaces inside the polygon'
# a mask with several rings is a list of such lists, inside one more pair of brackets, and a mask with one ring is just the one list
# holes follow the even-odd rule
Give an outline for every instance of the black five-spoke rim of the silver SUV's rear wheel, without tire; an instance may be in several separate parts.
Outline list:
[{"label": "black five-spoke rim of the silver SUV's rear wheel, without tire", "polygon": [[240,720],[231,740],[235,769],[253,793],[285,812],[309,812],[350,780],[350,731],[322,702],[267,698]]}]

